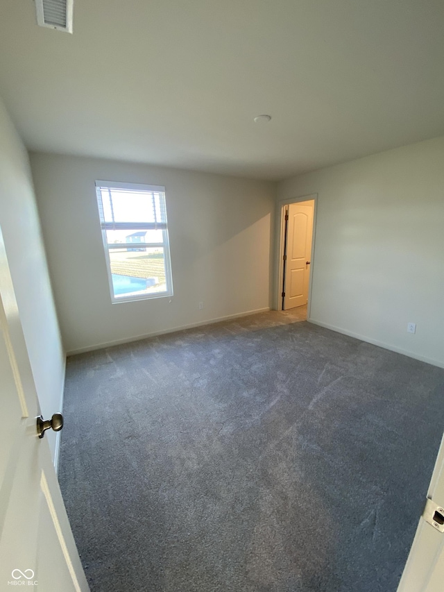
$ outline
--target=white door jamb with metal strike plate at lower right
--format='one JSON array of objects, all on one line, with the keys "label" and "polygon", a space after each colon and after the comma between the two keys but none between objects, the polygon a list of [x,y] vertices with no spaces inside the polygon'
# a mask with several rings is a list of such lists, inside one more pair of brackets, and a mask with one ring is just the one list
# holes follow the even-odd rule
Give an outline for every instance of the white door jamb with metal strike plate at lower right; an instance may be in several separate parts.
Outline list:
[{"label": "white door jamb with metal strike plate at lower right", "polygon": [[[443,513],[440,510],[444,510],[444,437],[427,498],[432,500],[429,505],[434,508],[428,515],[431,518],[435,516],[437,521],[432,520],[432,522],[441,527]],[[438,514],[434,514],[434,511],[438,511]],[[444,532],[439,532],[423,516],[416,530],[398,592],[442,592],[444,590]],[[443,527],[441,530],[444,530]]]}]

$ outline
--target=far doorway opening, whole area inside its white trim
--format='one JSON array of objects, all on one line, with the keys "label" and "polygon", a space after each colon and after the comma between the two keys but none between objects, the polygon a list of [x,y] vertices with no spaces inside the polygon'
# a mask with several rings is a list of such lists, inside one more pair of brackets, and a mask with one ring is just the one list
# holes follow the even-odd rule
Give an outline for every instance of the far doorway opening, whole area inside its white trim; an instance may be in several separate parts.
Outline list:
[{"label": "far doorway opening, whole area inside its white trim", "polygon": [[309,303],[314,205],[313,196],[282,206],[280,310],[298,312]]}]

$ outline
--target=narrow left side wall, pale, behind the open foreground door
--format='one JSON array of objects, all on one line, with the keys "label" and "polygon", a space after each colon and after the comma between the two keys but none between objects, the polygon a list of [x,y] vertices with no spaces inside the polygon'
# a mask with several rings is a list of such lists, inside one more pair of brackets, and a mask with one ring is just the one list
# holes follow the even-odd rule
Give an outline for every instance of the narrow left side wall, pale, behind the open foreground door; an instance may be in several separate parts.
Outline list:
[{"label": "narrow left side wall, pale, behind the open foreground door", "polygon": [[[60,411],[65,355],[53,303],[28,154],[0,101],[0,226],[42,414]],[[56,434],[48,434],[53,459]]]}]

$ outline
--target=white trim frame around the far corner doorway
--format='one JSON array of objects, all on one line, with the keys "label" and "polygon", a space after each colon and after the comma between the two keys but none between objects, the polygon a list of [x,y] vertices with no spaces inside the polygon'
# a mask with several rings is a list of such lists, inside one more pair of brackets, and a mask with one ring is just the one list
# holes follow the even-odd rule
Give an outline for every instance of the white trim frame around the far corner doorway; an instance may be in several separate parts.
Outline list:
[{"label": "white trim frame around the far corner doorway", "polygon": [[311,257],[310,257],[310,278],[308,286],[308,303],[307,303],[307,321],[310,319],[311,309],[311,292],[313,285],[313,269],[314,269],[314,252],[316,243],[316,212],[318,210],[318,194],[312,193],[309,195],[301,195],[295,198],[280,199],[276,205],[276,237],[278,242],[276,245],[276,261],[275,261],[275,287],[273,290],[275,305],[274,310],[282,310],[282,282],[284,280],[284,242],[285,242],[285,208],[291,203],[300,203],[301,201],[314,201],[313,206],[313,233],[311,235]]}]

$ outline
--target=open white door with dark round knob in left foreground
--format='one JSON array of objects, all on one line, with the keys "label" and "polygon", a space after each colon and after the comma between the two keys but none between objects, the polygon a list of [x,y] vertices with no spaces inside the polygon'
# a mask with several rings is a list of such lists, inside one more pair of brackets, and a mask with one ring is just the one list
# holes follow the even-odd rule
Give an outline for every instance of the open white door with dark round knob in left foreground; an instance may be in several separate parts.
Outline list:
[{"label": "open white door with dark round knob in left foreground", "polygon": [[0,394],[0,590],[87,591],[47,437],[37,436],[40,407],[1,231]]}]

